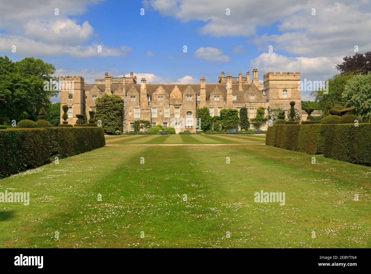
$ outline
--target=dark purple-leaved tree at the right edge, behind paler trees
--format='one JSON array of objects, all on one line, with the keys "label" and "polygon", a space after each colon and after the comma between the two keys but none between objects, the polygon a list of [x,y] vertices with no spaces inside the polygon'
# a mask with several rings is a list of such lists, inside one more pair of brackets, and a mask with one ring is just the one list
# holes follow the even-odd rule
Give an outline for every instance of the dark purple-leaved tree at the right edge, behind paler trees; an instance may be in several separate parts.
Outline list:
[{"label": "dark purple-leaved tree at the right edge, behind paler trees", "polygon": [[336,69],[342,75],[349,73],[368,74],[368,72],[371,72],[371,51],[356,52],[354,55],[345,56],[343,60],[344,62],[336,66]]}]

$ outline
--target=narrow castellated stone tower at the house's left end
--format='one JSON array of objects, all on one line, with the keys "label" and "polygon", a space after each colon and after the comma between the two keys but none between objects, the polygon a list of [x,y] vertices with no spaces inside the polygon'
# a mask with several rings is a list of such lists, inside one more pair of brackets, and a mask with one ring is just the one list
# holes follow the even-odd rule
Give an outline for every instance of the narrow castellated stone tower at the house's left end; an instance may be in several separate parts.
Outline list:
[{"label": "narrow castellated stone tower at the house's left end", "polygon": [[76,124],[76,114],[83,114],[84,106],[84,78],[81,76],[60,76],[60,123],[62,119],[62,106],[68,105],[68,123]]}]

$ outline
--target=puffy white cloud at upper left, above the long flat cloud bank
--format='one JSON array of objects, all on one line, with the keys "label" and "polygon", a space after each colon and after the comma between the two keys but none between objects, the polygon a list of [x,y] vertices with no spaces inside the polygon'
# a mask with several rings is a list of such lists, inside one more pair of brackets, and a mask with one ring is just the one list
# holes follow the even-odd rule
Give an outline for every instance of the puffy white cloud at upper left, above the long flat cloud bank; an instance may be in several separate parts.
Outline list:
[{"label": "puffy white cloud at upper left, above the long flat cloud bank", "polygon": [[64,45],[79,45],[93,34],[93,28],[88,21],[82,25],[71,19],[61,19],[54,22],[42,22],[39,19],[27,22],[24,35],[44,42],[61,42]]}]

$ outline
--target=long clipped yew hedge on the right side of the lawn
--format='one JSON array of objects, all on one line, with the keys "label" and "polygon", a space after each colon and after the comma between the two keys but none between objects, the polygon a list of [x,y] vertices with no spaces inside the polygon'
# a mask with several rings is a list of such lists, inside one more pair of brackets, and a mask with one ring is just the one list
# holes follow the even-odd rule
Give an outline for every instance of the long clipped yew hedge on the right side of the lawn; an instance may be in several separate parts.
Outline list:
[{"label": "long clipped yew hedge on the right side of the lawn", "polygon": [[265,143],[282,149],[371,166],[371,124],[273,125]]}]

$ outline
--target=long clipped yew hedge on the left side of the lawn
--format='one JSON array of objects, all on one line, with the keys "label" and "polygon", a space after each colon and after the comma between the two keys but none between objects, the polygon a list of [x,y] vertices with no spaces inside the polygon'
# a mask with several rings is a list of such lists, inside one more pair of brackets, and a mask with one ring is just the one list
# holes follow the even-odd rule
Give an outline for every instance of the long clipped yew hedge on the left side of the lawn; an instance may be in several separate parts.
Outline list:
[{"label": "long clipped yew hedge on the left side of the lawn", "polygon": [[0,130],[0,178],[105,145],[101,127]]}]

